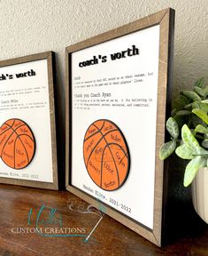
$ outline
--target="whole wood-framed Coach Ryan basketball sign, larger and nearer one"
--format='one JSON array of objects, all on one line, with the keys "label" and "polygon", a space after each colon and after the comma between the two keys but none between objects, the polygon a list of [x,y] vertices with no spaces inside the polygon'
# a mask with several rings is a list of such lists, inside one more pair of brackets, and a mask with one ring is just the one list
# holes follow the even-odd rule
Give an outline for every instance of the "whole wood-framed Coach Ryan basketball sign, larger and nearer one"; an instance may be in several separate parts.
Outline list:
[{"label": "whole wood-framed Coach Ryan basketball sign, larger and nearer one", "polygon": [[166,9],[66,48],[66,189],[158,246],[173,25]]}]

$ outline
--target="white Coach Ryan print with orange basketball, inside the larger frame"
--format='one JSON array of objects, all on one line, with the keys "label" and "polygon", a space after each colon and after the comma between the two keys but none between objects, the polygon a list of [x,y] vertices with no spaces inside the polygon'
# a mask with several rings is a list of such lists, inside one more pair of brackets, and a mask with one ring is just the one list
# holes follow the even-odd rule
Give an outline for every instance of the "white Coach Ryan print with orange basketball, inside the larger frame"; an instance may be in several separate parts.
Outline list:
[{"label": "white Coach Ryan print with orange basketball, inside the larger frame", "polygon": [[150,229],[158,52],[156,25],[71,57],[72,185]]}]

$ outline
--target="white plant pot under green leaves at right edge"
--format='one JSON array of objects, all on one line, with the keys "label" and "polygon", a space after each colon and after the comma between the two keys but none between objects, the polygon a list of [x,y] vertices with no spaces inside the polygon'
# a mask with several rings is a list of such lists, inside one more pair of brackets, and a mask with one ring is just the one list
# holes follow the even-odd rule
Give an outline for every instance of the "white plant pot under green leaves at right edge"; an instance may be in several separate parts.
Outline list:
[{"label": "white plant pot under green leaves at right edge", "polygon": [[192,201],[198,215],[208,224],[208,168],[201,168],[192,185]]}]

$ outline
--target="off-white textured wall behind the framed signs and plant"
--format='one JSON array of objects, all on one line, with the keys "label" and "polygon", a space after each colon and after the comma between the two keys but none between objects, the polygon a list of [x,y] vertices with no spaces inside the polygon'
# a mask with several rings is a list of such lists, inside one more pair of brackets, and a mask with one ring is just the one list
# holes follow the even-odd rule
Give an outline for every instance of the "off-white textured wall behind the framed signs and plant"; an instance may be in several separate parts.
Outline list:
[{"label": "off-white textured wall behind the framed signs and plant", "polygon": [[207,0],[0,0],[0,60],[52,50],[64,86],[65,46],[171,6],[174,91],[208,80]]}]

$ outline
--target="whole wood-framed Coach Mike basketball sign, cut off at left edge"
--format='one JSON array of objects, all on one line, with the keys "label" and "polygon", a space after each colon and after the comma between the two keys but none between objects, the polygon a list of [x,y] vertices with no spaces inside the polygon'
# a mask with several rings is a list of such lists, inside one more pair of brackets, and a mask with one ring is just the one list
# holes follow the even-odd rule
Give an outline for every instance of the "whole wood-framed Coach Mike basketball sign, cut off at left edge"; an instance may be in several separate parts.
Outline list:
[{"label": "whole wood-framed Coach Mike basketball sign, cut off at left edge", "polygon": [[[7,160],[3,160],[2,157],[1,160],[3,160],[5,167],[0,161],[0,164],[2,164],[0,167],[0,172],[2,171],[2,173],[4,174],[3,175],[1,173],[0,183],[34,188],[48,188],[55,190],[58,189],[58,161],[53,73],[54,58],[54,52],[42,52],[12,60],[0,61],[0,73],[2,78],[2,81],[0,82],[2,85],[0,90],[0,98],[2,96],[2,100],[7,100],[5,104],[8,104],[7,107],[9,109],[5,111],[4,109],[0,110],[4,114],[3,116],[5,120],[5,123],[1,125],[11,124],[11,129],[13,129],[13,133],[17,133],[18,130],[14,129],[14,125],[18,126],[18,124],[15,122],[23,122],[23,124],[21,124],[21,126],[23,125],[22,127],[25,129],[25,131],[21,130],[21,132],[23,132],[23,135],[28,132],[27,128],[29,127],[29,129],[32,129],[29,132],[31,132],[34,136],[34,138],[31,139],[31,137],[26,137],[27,134],[25,135],[25,137],[20,137],[22,134],[19,135],[19,133],[17,133],[18,138],[22,138],[21,144],[24,147],[25,151],[20,152],[21,148],[18,148],[17,143],[14,144],[15,146],[13,147],[16,147],[16,149],[14,149],[14,155],[11,156],[14,157],[14,161],[12,160],[12,164],[14,163],[14,165],[8,165]],[[37,70],[33,67],[35,67]],[[8,90],[10,91],[8,96],[6,96],[6,94],[4,94],[3,92],[5,86],[7,86],[7,88],[9,88]],[[20,94],[22,94],[24,98],[20,98],[22,97]],[[1,103],[1,107],[4,108],[4,103]],[[18,110],[16,110],[16,108]],[[22,110],[23,108],[25,109]],[[8,119],[9,121],[6,121]],[[13,123],[10,123],[11,120]],[[29,122],[27,120],[29,120]],[[4,121],[2,120],[2,122]],[[43,125],[45,125],[46,128],[44,128]],[[4,128],[4,126],[1,126],[0,129],[2,128]],[[45,138],[46,133],[47,138]],[[24,142],[23,138],[29,139],[25,140]],[[32,146],[29,145],[30,142],[33,142],[31,144]],[[4,155],[7,144],[5,144],[6,146],[4,146],[4,149],[1,149],[2,156]],[[32,150],[33,152],[29,153],[30,149],[27,147],[33,147],[31,149],[31,152]],[[17,154],[22,157],[26,157],[27,155],[27,160],[24,160],[26,164],[18,164],[17,161],[19,158],[17,157]],[[30,154],[33,154],[33,156],[30,156]],[[44,158],[42,158],[44,155],[46,155],[45,160]],[[24,161],[22,161],[21,164],[24,163]],[[48,168],[47,166],[50,166],[50,168]],[[5,171],[3,172],[3,170],[1,170],[2,168],[7,169],[5,169]],[[28,168],[30,168],[29,171]],[[5,174],[9,176],[5,177]],[[17,176],[19,178],[14,178],[12,176]]]}]

